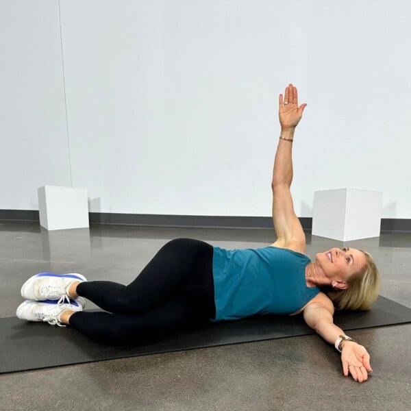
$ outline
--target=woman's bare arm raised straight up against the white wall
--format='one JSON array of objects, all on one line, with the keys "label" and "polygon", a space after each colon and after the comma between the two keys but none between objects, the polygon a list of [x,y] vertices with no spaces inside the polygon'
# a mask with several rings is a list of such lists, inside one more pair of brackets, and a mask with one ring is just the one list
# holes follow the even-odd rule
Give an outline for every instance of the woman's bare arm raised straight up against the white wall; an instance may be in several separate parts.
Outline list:
[{"label": "woman's bare arm raised straight up against the white wall", "polygon": [[297,88],[290,84],[279,95],[281,136],[275,153],[273,181],[273,224],[277,234],[275,247],[304,252],[306,236],[295,215],[290,186],[292,182],[292,140],[306,104],[298,105]]}]

